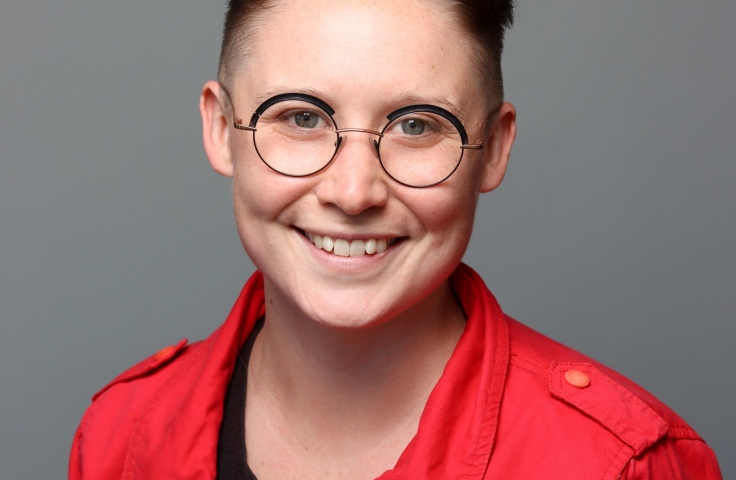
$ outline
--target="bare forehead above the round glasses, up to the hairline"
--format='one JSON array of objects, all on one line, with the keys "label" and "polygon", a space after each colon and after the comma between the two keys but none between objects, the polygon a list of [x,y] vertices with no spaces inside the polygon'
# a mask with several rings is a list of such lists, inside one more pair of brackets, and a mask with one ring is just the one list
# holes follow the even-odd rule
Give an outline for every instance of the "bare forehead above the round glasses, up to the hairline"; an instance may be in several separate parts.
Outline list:
[{"label": "bare forehead above the round glasses, up to the hairline", "polygon": [[320,92],[336,110],[400,98],[462,110],[483,103],[467,35],[429,0],[280,2],[252,38],[233,82],[251,106],[299,90]]}]

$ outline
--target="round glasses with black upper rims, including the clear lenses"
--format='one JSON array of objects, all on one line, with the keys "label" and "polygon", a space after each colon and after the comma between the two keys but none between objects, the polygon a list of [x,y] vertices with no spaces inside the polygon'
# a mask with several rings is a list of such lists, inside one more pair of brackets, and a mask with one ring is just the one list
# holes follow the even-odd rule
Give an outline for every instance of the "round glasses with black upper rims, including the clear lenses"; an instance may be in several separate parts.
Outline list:
[{"label": "round glasses with black upper rims, including the clear lenses", "polygon": [[460,166],[465,150],[483,148],[482,140],[469,144],[460,120],[435,105],[395,110],[380,131],[338,128],[334,113],[319,98],[285,93],[263,102],[248,125],[235,117],[234,127],[253,132],[253,145],[263,163],[289,177],[306,177],[327,168],[344,143],[343,133],[373,135],[372,145],[386,174],[414,188],[444,182]]}]

